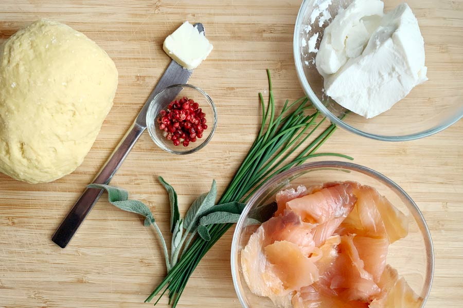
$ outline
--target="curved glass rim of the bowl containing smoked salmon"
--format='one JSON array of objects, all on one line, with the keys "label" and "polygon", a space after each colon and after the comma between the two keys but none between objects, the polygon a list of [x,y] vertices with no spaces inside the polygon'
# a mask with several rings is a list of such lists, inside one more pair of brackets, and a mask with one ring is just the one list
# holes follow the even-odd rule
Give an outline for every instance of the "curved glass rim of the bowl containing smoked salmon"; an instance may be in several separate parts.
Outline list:
[{"label": "curved glass rim of the bowl containing smoked salmon", "polygon": [[241,303],[241,305],[244,308],[250,308],[244,301],[243,296],[241,295],[240,292],[240,286],[238,285],[238,278],[237,278],[237,268],[236,264],[238,262],[237,257],[238,257],[238,237],[241,234],[241,230],[243,228],[243,224],[245,222],[245,218],[248,215],[249,211],[251,210],[251,206],[257,201],[257,199],[262,195],[268,188],[270,188],[272,185],[275,183],[280,182],[282,179],[287,178],[294,172],[300,172],[300,171],[305,171],[305,170],[311,170],[311,169],[320,169],[320,168],[344,168],[344,169],[349,169],[352,171],[358,171],[361,172],[365,175],[371,176],[373,178],[377,178],[379,181],[384,182],[388,186],[390,186],[393,189],[396,189],[398,194],[404,197],[409,204],[412,205],[409,210],[415,211],[416,214],[414,215],[416,220],[420,220],[421,224],[424,226],[424,230],[421,232],[423,233],[424,231],[424,244],[426,248],[429,251],[429,258],[427,258],[427,272],[428,272],[428,277],[425,277],[424,280],[424,286],[427,287],[427,290],[425,290],[423,302],[421,304],[421,308],[424,307],[426,304],[426,301],[428,300],[428,296],[431,292],[431,286],[433,283],[433,278],[434,278],[434,245],[433,241],[431,238],[431,233],[428,227],[428,224],[426,224],[426,221],[424,220],[423,214],[421,213],[421,210],[419,207],[416,205],[416,203],[413,201],[413,199],[403,190],[398,184],[396,184],[393,180],[387,178],[383,174],[381,174],[378,171],[375,171],[373,169],[370,169],[365,166],[361,166],[358,164],[350,163],[350,162],[342,162],[342,161],[319,161],[319,162],[311,162],[311,163],[305,163],[301,164],[299,166],[292,167],[284,172],[281,172],[280,174],[276,175],[273,179],[267,181],[265,184],[260,187],[255,194],[250,198],[250,200],[247,202],[245,208],[243,209],[240,218],[237,222],[236,228],[234,230],[233,234],[233,240],[231,241],[231,253],[230,253],[230,263],[231,263],[231,277],[233,279],[233,285],[235,287],[235,292],[238,296],[238,299]]}]

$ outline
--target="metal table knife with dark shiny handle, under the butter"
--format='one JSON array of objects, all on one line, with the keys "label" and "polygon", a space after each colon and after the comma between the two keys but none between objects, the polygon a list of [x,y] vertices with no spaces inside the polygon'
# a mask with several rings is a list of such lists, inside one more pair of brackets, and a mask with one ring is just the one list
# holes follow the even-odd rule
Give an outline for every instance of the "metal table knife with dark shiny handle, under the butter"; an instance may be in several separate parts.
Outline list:
[{"label": "metal table knife with dark shiny handle, under the butter", "polygon": [[[204,32],[204,27],[202,24],[198,23],[194,26],[197,27],[200,33]],[[106,161],[104,166],[100,169],[98,175],[95,177],[92,183],[108,184],[111,181],[117,170],[122,165],[123,161],[126,159],[130,150],[135,145],[135,142],[137,142],[138,138],[140,138],[141,134],[145,131],[146,113],[151,101],[159,92],[168,86],[174,84],[186,84],[192,73],[193,70],[184,69],[174,60],[170,62],[163,76],[158,81],[156,87],[148,97],[145,106],[141,108],[134,123],[116,146],[113,153]],[[173,93],[173,97],[169,99],[175,99],[176,94],[178,93]],[[98,201],[98,198],[100,198],[102,194],[102,189],[86,188],[83,194],[80,196],[79,200],[77,200],[76,204],[74,204],[73,208],[69,211],[69,214],[67,214],[66,218],[58,227],[51,240],[61,248],[66,247],[69,241],[76,234],[85,217],[88,215],[88,213],[90,213],[90,210],[93,208],[95,203]]]}]

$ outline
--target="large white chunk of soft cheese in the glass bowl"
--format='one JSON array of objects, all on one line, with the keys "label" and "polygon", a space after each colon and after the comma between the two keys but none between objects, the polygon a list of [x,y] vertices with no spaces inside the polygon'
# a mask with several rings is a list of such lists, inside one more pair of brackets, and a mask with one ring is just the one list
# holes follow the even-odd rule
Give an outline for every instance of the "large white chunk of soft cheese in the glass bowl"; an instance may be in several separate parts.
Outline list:
[{"label": "large white chunk of soft cheese in the glass bowl", "polygon": [[405,3],[383,14],[379,0],[354,0],[325,29],[316,66],[326,94],[366,118],[428,80],[423,37]]}]

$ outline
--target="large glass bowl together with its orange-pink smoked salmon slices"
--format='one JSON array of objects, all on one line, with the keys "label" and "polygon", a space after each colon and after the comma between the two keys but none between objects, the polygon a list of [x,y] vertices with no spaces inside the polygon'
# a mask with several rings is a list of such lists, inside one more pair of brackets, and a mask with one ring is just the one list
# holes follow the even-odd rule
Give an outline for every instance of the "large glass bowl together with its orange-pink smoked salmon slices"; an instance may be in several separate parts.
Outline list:
[{"label": "large glass bowl together with its orange-pink smoked salmon slices", "polygon": [[415,202],[378,172],[314,162],[266,182],[231,245],[245,308],[421,308],[433,244]]}]

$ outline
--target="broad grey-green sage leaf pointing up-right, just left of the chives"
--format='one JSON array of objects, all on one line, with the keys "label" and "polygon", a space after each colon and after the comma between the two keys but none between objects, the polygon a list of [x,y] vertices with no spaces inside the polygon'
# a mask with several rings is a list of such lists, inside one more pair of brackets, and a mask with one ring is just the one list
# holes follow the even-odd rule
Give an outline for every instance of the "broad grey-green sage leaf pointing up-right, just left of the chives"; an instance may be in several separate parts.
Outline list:
[{"label": "broad grey-green sage leaf pointing up-right, just left of the chives", "polygon": [[216,180],[212,181],[211,188],[209,192],[206,194],[202,194],[196,200],[194,200],[193,204],[191,204],[190,208],[185,215],[185,220],[183,222],[183,227],[191,232],[191,230],[195,229],[198,224],[201,216],[215,205],[217,198],[217,188],[216,188]]}]

